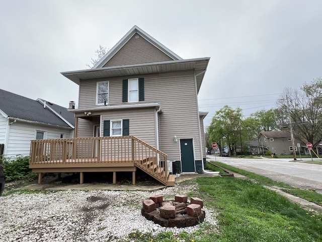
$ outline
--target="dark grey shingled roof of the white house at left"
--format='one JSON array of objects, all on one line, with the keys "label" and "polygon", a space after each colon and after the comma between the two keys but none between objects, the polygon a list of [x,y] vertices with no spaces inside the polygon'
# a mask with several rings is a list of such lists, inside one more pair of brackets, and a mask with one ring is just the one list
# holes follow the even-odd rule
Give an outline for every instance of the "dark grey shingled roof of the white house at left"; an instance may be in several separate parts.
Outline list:
[{"label": "dark grey shingled roof of the white house at left", "polygon": [[[42,99],[32,100],[18,94],[0,89],[0,113],[6,117],[26,120],[29,122],[42,123],[66,128],[74,128],[74,116],[67,111],[67,108],[50,103],[52,109],[58,111],[59,115],[53,112]],[[61,113],[60,113],[61,112]],[[65,122],[65,120],[68,122]]]}]

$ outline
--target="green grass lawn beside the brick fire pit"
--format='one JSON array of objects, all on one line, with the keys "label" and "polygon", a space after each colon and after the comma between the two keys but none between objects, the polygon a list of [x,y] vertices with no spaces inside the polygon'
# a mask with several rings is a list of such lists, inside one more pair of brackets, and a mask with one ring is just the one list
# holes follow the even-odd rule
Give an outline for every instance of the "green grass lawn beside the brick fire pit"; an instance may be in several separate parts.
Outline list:
[{"label": "green grass lawn beside the brick fire pit", "polygon": [[129,234],[131,241],[322,241],[321,214],[303,210],[260,183],[220,176],[185,182],[199,185],[197,191],[187,195],[203,199],[207,209],[217,214],[217,226],[205,222],[200,230],[178,235],[164,232],[153,236],[135,231]]}]

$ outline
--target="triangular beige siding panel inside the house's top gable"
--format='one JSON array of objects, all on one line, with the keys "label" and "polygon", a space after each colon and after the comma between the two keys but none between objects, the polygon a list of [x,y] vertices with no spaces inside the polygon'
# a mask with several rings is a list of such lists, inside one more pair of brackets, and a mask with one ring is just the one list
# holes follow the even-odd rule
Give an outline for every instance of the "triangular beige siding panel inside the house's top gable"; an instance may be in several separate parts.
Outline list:
[{"label": "triangular beige siding panel inside the house's top gable", "polygon": [[[139,38],[136,39],[135,36],[139,36]],[[173,61],[173,59],[146,41],[141,35],[134,34],[103,67],[163,61]]]}]

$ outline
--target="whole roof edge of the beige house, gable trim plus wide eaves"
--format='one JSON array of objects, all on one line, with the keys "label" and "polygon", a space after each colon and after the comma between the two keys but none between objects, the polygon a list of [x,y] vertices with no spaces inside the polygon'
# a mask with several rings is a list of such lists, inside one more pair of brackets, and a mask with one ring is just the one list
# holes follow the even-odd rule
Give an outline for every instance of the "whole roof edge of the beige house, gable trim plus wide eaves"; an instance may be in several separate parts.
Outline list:
[{"label": "whole roof edge of the beige house, gable trim plus wide eaves", "polygon": [[[150,63],[139,63],[122,66],[103,67],[127,41],[135,34],[139,33],[143,38],[153,46],[170,57],[170,61],[159,61]],[[197,82],[197,91],[199,92],[202,80],[204,78],[210,57],[182,59],[180,56],[157,42],[151,36],[146,34],[137,26],[134,26],[106,55],[93,67],[93,69],[61,72],[63,76],[79,85],[80,80],[97,79],[107,77],[133,76],[150,73],[194,70]]]}]

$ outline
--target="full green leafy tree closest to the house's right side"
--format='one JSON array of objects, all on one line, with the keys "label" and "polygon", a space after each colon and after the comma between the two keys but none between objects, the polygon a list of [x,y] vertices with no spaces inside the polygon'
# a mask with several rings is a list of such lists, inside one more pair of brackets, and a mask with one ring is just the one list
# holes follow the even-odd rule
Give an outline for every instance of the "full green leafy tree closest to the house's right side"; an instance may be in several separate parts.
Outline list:
[{"label": "full green leafy tree closest to the house's right side", "polygon": [[241,117],[240,108],[232,109],[225,105],[216,111],[208,127],[209,141],[217,142],[220,150],[228,146],[233,154],[233,147],[240,139]]}]

